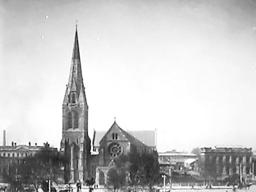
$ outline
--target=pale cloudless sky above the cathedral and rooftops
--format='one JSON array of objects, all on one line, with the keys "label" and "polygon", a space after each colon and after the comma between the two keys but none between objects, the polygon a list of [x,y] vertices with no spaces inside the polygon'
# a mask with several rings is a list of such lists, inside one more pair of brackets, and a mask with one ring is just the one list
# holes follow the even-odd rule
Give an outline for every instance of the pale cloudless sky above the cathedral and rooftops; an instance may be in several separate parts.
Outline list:
[{"label": "pale cloudless sky above the cathedral and rooftops", "polygon": [[0,0],[0,144],[60,147],[76,20],[91,139],[256,150],[253,0]]}]

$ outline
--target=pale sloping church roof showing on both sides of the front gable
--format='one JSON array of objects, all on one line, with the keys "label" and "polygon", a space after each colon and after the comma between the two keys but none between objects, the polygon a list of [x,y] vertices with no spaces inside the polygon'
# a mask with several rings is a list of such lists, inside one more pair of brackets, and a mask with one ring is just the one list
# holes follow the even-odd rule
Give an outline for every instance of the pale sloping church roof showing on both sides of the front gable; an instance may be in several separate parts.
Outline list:
[{"label": "pale sloping church roof showing on both sides of the front gable", "polygon": [[[123,130],[123,129],[122,129]],[[124,130],[123,130],[124,131]],[[155,131],[125,131],[134,138],[140,140],[147,146],[155,147]],[[106,131],[94,131],[93,146],[99,147],[99,142],[106,134]]]}]

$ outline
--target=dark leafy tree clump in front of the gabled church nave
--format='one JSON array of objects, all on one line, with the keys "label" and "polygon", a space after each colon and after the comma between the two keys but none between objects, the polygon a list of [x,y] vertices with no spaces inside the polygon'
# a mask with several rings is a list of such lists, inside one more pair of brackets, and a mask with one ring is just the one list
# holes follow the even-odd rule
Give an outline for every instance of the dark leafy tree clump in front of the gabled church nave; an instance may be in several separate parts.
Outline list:
[{"label": "dark leafy tree clump in front of the gabled church nave", "polygon": [[109,171],[109,180],[115,187],[127,184],[136,191],[138,185],[148,186],[150,190],[159,181],[158,153],[138,153],[132,150],[129,155],[114,159],[115,169]]}]

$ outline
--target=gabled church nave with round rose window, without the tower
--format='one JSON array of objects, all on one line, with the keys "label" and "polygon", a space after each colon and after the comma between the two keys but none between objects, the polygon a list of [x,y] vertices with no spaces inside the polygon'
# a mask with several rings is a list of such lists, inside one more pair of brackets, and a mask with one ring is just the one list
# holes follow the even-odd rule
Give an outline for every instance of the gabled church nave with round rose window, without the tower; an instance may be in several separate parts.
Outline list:
[{"label": "gabled church nave with round rose window, without the tower", "polygon": [[[116,121],[103,137],[98,137],[97,132],[94,133],[93,146],[98,157],[95,157],[97,161],[92,162],[98,162],[98,165],[92,164],[92,166],[96,167],[95,181],[97,185],[107,183],[108,171],[114,167],[114,158],[129,155],[135,151],[139,154],[152,154],[153,151],[156,151],[154,131],[131,131],[131,133],[137,134],[138,137],[135,138],[132,134],[121,129]],[[140,133],[145,133],[144,137]],[[146,138],[147,136],[148,138]],[[101,139],[99,140],[99,138]]]}]

